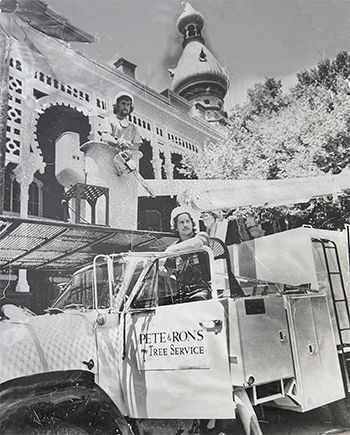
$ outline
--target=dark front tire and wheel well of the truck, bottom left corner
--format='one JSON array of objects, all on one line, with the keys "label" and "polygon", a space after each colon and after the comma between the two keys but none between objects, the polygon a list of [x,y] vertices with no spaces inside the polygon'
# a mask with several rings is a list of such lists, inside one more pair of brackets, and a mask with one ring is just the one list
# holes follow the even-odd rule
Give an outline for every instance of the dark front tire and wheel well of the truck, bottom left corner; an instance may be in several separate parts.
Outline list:
[{"label": "dark front tire and wheel well of the truck, bottom left corner", "polygon": [[[80,433],[130,435],[115,403],[84,370],[55,371],[20,377],[0,385],[0,433],[26,434],[63,423]],[[15,432],[14,432],[15,431]],[[102,432],[101,432],[102,433]]]}]

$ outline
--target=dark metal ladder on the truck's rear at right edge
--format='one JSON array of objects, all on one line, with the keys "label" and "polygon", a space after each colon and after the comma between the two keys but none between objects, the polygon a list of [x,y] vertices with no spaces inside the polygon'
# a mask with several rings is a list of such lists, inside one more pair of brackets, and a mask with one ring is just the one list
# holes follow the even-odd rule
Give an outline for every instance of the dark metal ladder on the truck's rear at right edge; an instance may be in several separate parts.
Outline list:
[{"label": "dark metal ladder on the truck's rear at right edge", "polygon": [[[337,324],[337,329],[339,332],[340,345],[338,345],[338,351],[340,351],[339,356],[340,356],[341,369],[343,372],[344,387],[345,387],[345,392],[346,392],[347,396],[349,396],[350,395],[350,377],[349,377],[349,370],[347,367],[347,365],[348,365],[347,363],[350,362],[350,358],[346,356],[345,348],[346,347],[350,348],[350,343],[344,342],[344,332],[350,331],[350,310],[349,310],[349,302],[348,302],[348,299],[346,297],[346,289],[345,289],[344,279],[343,279],[343,275],[342,275],[342,271],[341,271],[338,248],[337,248],[336,243],[333,242],[332,240],[312,239],[312,241],[319,242],[322,244],[322,250],[323,250],[323,255],[324,255],[324,259],[325,259],[329,288],[331,291],[332,302],[333,302],[333,307],[334,307],[334,315],[335,315],[335,320],[336,320],[336,324]],[[335,270],[331,270],[331,265],[330,265],[329,255],[332,252],[335,254],[335,256],[333,257],[335,259]],[[341,297],[338,299],[337,299],[337,295],[335,293],[335,285],[334,285],[334,279],[336,277],[339,278],[340,290],[341,290]],[[341,323],[340,323],[341,306],[343,306],[343,310],[344,310],[343,314],[345,314],[345,317],[346,317],[346,319],[344,319],[344,316],[343,316],[343,323],[345,323],[345,326],[341,325]]]}]

